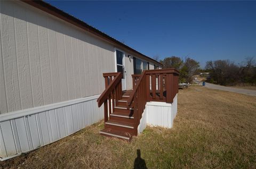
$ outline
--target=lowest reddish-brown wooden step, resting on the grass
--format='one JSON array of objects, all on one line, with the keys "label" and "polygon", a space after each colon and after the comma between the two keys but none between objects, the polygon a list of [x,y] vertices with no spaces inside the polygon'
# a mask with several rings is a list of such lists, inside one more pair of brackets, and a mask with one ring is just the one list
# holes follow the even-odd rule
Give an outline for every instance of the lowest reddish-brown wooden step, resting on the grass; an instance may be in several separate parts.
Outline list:
[{"label": "lowest reddish-brown wooden step, resting on the grass", "polygon": [[103,129],[99,132],[102,135],[108,136],[108,137],[117,137],[119,139],[124,139],[130,141],[132,139],[132,135],[128,132],[123,131],[117,131],[113,129]]}]

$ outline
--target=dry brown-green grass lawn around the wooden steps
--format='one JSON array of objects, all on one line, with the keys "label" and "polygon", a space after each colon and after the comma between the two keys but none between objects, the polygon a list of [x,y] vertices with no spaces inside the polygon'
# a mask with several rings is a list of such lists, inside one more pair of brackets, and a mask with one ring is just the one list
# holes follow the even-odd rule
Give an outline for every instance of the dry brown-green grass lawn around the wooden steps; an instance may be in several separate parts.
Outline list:
[{"label": "dry brown-green grass lawn around the wooden steps", "polygon": [[190,87],[179,90],[172,129],[150,128],[131,142],[98,133],[103,123],[0,163],[0,168],[256,168],[256,97]]}]

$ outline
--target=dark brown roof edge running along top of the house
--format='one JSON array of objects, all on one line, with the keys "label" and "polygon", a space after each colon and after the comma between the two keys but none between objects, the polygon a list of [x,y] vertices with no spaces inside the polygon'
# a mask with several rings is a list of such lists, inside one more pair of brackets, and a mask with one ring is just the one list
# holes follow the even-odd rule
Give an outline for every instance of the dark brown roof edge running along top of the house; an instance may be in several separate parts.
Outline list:
[{"label": "dark brown roof edge running along top of the house", "polygon": [[111,43],[114,43],[114,44],[116,44],[118,46],[121,46],[121,47],[124,47],[124,48],[126,48],[128,50],[131,50],[133,53],[138,54],[138,55],[140,55],[142,57],[145,57],[147,60],[149,60],[149,61],[151,61],[151,62],[153,62],[155,64],[163,65],[163,64],[157,62],[156,60],[154,60],[153,58],[148,57],[148,56],[138,52],[137,50],[135,50],[135,49],[133,49],[133,48],[131,48],[131,47],[121,43],[120,41],[116,40],[115,38],[110,37],[106,33],[104,33],[102,31],[100,31],[100,30],[90,26],[89,24],[85,23],[82,20],[79,20],[79,19],[75,18],[74,16],[71,16],[70,14],[68,14],[68,13],[58,9],[55,6],[52,6],[49,3],[46,3],[44,1],[33,1],[33,0],[31,0],[31,1],[21,0],[21,1],[27,3],[27,4],[31,5],[31,6],[34,6],[37,9],[40,9],[40,10],[45,11],[47,13],[50,13],[50,14],[52,14],[54,16],[57,16],[58,18],[60,18],[62,20],[65,20],[65,21],[67,21],[67,22],[69,22],[71,24],[74,24],[75,26],[80,27],[80,28],[82,28],[82,29],[84,29],[86,31],[89,31],[89,32],[93,33],[94,35],[97,35],[97,36],[99,36],[99,37],[101,37],[101,38],[103,38],[103,39],[105,39],[107,41],[110,41]]}]

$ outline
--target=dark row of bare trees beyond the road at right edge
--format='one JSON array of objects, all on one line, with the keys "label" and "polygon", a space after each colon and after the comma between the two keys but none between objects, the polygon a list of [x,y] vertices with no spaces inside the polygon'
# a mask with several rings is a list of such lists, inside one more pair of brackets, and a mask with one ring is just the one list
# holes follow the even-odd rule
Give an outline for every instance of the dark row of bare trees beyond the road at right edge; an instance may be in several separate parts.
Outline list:
[{"label": "dark row of bare trees beyond the road at right edge", "polygon": [[247,57],[242,64],[229,60],[207,61],[205,69],[209,71],[207,81],[219,85],[238,84],[256,85],[256,65],[253,57]]}]

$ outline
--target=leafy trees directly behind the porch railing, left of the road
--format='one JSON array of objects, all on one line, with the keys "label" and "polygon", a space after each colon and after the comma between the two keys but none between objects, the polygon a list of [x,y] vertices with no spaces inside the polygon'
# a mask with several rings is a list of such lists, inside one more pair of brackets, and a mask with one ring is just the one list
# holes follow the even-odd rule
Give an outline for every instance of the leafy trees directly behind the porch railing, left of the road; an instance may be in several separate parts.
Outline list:
[{"label": "leafy trees directly behind the porch railing, left of the road", "polygon": [[186,57],[182,59],[177,56],[165,57],[161,60],[164,69],[175,68],[179,70],[179,81],[180,82],[191,82],[193,81],[194,75],[198,72],[200,67],[199,62],[193,60],[193,58]]}]

